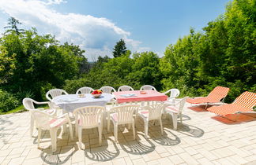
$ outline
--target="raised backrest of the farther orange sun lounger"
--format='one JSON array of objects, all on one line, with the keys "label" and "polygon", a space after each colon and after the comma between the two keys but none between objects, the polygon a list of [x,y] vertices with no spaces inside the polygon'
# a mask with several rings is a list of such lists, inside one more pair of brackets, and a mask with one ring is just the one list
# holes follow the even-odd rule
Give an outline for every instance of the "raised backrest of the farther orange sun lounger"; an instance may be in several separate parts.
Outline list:
[{"label": "raised backrest of the farther orange sun lounger", "polygon": [[223,86],[216,86],[207,97],[210,97],[216,101],[221,101],[228,95],[229,88]]}]

